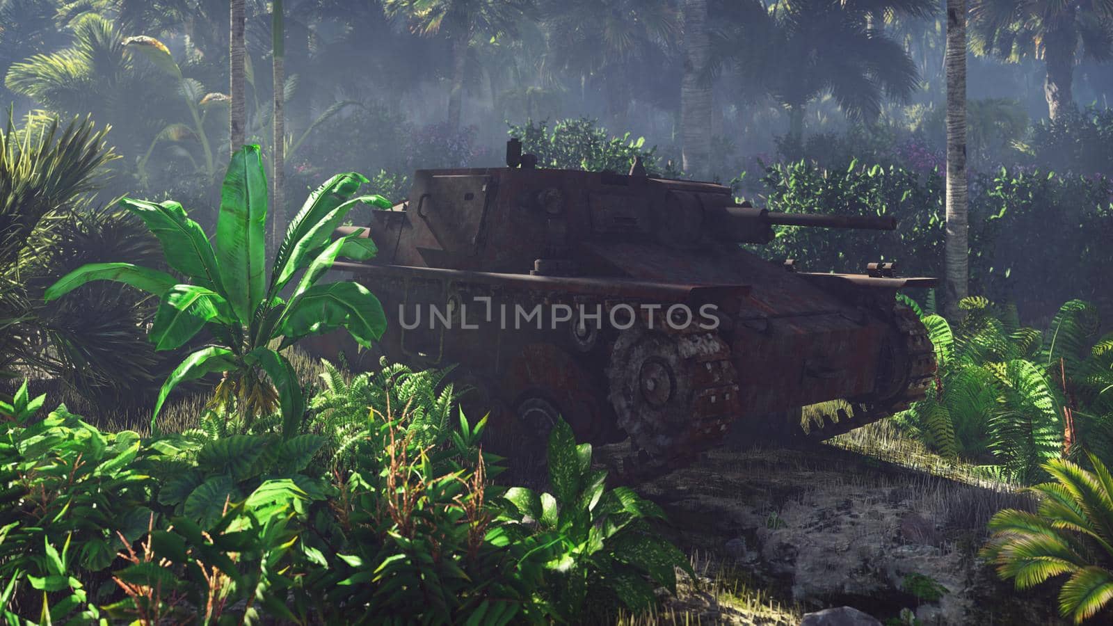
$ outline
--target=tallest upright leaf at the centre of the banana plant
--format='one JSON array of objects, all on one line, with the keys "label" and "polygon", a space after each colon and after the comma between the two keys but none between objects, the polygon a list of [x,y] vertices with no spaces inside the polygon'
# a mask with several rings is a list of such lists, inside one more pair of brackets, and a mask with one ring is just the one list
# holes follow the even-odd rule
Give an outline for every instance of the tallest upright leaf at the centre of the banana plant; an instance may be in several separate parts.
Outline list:
[{"label": "tallest upright leaf at the centre of the banana plant", "polygon": [[220,187],[216,223],[216,257],[232,310],[239,321],[252,321],[263,301],[267,178],[258,146],[244,146],[232,157]]}]

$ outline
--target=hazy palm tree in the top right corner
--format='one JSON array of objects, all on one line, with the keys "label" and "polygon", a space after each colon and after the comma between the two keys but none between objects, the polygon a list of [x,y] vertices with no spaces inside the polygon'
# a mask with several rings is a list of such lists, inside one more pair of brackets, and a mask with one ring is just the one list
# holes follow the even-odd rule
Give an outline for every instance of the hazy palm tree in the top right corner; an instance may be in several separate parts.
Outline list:
[{"label": "hazy palm tree in the top right corner", "polygon": [[1097,61],[1113,56],[1113,2],[1109,0],[972,0],[974,51],[1046,66],[1044,97],[1052,119],[1074,107],[1071,86],[1077,51]]}]

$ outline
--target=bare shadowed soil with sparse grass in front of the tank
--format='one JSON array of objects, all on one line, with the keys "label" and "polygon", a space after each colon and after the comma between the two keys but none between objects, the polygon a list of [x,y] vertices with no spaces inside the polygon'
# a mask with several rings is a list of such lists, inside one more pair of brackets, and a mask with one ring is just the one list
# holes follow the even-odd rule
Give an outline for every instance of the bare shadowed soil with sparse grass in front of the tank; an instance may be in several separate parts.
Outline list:
[{"label": "bare shadowed soil with sparse grass in front of the tank", "polygon": [[1065,624],[1055,586],[1016,591],[978,558],[989,517],[1032,502],[971,470],[887,424],[806,450],[712,450],[639,488],[702,585],[627,623],[795,625],[853,606],[881,622],[909,609],[924,625]]}]

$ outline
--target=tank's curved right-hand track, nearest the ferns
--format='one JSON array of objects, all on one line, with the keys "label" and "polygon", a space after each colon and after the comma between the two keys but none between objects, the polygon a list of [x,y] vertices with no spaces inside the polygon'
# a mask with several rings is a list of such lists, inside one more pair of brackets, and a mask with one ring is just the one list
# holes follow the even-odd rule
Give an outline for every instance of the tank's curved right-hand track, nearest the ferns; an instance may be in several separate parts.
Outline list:
[{"label": "tank's curved right-hand track, nearest the ferns", "polygon": [[[823,414],[819,423],[809,424],[805,438],[811,441],[824,441],[839,434],[850,432],[856,428],[888,418],[904,411],[927,397],[935,382],[935,346],[927,335],[927,329],[920,323],[916,312],[905,304],[897,303],[893,311],[893,323],[904,338],[900,356],[908,363],[908,372],[903,381],[898,381],[896,394],[881,399],[847,400],[850,410],[839,410],[836,414]],[[892,368],[894,363],[881,363]]]}]

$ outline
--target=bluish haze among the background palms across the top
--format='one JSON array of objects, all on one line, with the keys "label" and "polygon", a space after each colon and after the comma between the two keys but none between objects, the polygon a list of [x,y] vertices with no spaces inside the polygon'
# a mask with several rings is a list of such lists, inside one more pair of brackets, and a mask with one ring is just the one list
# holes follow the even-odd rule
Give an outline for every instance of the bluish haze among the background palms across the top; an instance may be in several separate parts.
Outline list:
[{"label": "bluish haze among the background palms across the top", "polygon": [[[1105,172],[1100,149],[1062,164],[1038,149],[1048,113],[1106,106],[1113,33],[1101,3],[1063,14],[1040,3],[971,4],[972,168]],[[206,186],[227,151],[226,102],[205,96],[229,90],[228,2],[0,7],[2,96],[17,118],[49,110],[111,125],[109,143],[125,157],[112,190]],[[246,138],[264,146],[273,141],[272,10],[245,2]],[[662,162],[723,182],[742,172],[755,182],[758,159],[942,164],[939,2],[286,0],[283,28],[292,190],[312,185],[311,172],[397,177],[498,165],[508,124],[579,118],[644,137]],[[161,41],[178,69],[139,53],[142,45],[128,43],[136,36]],[[695,106],[688,119],[683,99]],[[695,145],[683,164],[686,138]]]}]

